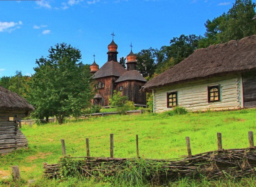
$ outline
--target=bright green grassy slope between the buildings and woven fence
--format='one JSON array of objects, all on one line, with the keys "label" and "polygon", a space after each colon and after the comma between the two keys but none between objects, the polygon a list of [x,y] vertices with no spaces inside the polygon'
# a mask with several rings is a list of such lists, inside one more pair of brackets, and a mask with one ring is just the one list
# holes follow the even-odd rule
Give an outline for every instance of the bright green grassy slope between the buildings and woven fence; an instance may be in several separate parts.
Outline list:
[{"label": "bright green grassy slope between the buildings and woven fence", "polygon": [[[85,156],[85,138],[90,139],[91,156],[109,156],[109,134],[114,133],[114,156],[136,156],[136,134],[139,135],[140,155],[145,158],[177,158],[187,154],[185,136],[190,137],[192,154],[217,149],[217,132],[222,133],[223,148],[248,147],[248,131],[255,131],[256,110],[165,114],[112,115],[83,121],[70,121],[59,125],[49,123],[23,127],[29,148],[0,157],[0,186],[26,186],[26,180],[36,179],[35,186],[111,186],[96,183],[93,179],[47,180],[42,177],[43,162],[57,163],[61,157],[60,139],[65,139],[67,154]],[[256,131],[255,131],[256,133]],[[10,183],[11,166],[19,165],[21,180]],[[244,179],[241,185],[256,185],[255,179]],[[249,181],[249,182],[248,182]],[[186,179],[174,186],[205,186],[211,182],[188,182]],[[220,186],[226,183],[218,182]],[[230,184],[230,181],[228,182]],[[75,185],[76,184],[76,185]],[[217,184],[217,183],[215,183]],[[232,186],[233,183],[227,186]],[[240,183],[234,182],[234,186]],[[250,186],[250,185],[249,185]]]}]

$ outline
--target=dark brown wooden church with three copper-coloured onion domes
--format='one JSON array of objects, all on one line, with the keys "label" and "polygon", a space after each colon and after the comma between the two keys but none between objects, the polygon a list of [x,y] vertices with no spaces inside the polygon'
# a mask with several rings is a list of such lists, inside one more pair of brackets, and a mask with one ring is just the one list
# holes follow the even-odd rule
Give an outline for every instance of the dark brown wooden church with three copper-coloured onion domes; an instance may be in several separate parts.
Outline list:
[{"label": "dark brown wooden church with three copper-coloured onion domes", "polygon": [[127,56],[127,69],[117,62],[117,45],[112,42],[108,45],[108,62],[100,69],[94,62],[90,66],[93,74],[96,95],[92,104],[109,106],[109,98],[114,90],[121,91],[122,95],[128,96],[137,106],[146,106],[146,93],[140,92],[141,87],[147,82],[146,79],[136,70],[136,56],[132,52]]}]

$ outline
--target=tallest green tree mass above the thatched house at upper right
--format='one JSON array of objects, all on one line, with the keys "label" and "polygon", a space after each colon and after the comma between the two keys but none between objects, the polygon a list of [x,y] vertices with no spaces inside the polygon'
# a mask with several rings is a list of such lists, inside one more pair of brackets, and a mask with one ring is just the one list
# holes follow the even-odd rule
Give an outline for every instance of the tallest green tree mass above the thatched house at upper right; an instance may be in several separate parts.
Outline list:
[{"label": "tallest green tree mass above the thatched house at upper right", "polygon": [[252,0],[236,0],[228,13],[207,20],[205,23],[205,37],[199,47],[208,47],[211,44],[225,43],[256,34],[255,15],[256,4]]}]

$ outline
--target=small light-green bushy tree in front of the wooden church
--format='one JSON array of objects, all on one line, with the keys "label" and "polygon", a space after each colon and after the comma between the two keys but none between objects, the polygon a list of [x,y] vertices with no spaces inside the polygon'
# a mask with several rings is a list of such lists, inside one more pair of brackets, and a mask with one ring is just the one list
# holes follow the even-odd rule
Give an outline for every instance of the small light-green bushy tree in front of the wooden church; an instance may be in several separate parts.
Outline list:
[{"label": "small light-green bushy tree in front of the wooden church", "polygon": [[124,114],[126,111],[135,108],[134,103],[128,100],[128,96],[122,96],[122,92],[116,92],[116,90],[114,90],[112,98],[109,98],[109,103],[110,106],[116,108],[116,111],[120,114]]}]

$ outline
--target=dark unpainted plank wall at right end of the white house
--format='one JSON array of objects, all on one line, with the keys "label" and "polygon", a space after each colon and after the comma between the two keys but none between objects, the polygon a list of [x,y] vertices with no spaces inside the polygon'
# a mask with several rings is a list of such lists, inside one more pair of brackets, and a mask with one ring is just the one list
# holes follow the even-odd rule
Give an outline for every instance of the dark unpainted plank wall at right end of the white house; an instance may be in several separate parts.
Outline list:
[{"label": "dark unpainted plank wall at right end of the white house", "polygon": [[243,74],[244,107],[256,107],[256,73]]}]

